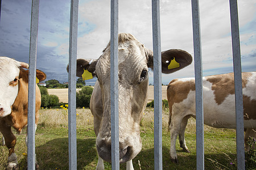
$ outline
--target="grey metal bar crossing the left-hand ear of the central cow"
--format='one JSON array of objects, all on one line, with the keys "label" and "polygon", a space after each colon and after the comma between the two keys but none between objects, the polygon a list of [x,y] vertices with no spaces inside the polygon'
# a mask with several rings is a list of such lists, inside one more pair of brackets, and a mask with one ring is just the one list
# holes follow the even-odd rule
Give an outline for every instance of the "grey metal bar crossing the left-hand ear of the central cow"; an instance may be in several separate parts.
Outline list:
[{"label": "grey metal bar crossing the left-hand ear of the central cow", "polygon": [[68,71],[68,151],[69,169],[77,169],[76,148],[76,58],[79,1],[71,0],[69,26],[69,71]]}]

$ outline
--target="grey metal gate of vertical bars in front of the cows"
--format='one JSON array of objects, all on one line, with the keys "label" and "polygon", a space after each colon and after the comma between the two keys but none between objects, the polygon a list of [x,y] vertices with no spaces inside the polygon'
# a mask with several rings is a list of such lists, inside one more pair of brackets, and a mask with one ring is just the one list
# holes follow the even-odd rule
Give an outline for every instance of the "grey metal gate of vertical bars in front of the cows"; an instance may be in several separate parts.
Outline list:
[{"label": "grey metal gate of vertical bars in front of the cows", "polygon": [[[1,2],[1,1],[0,1]],[[196,167],[204,169],[204,120],[202,89],[202,57],[200,37],[199,0],[192,0],[193,46],[196,78]],[[0,3],[1,5],[1,3]],[[77,57],[77,23],[79,1],[71,0],[71,17],[69,27],[69,169],[77,169],[76,151],[76,57]],[[1,9],[1,6],[0,6]],[[0,12],[1,14],[1,12]],[[39,0],[32,0],[30,32],[30,70],[28,86],[28,169],[35,169],[35,76],[36,46],[38,37]],[[232,25],[233,65],[236,91],[237,122],[237,169],[245,169],[243,139],[243,105],[240,36],[238,25],[237,0],[230,0],[230,18]],[[160,65],[160,8],[159,0],[152,0],[152,28],[154,48],[154,157],[155,169],[162,169],[162,75]],[[112,169],[119,169],[118,142],[118,0],[111,0],[111,129],[112,129]]]}]

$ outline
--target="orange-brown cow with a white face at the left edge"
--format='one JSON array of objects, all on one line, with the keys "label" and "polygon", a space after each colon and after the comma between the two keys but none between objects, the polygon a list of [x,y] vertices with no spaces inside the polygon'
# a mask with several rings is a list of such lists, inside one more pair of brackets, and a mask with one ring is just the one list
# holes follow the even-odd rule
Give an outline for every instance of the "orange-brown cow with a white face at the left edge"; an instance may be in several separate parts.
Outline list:
[{"label": "orange-brown cow with a white face at the left edge", "polygon": [[[27,125],[27,103],[28,103],[28,64],[15,61],[8,57],[0,57],[0,131],[5,138],[5,145],[9,149],[6,169],[18,169],[18,160],[14,152],[16,137],[11,131],[13,127],[21,133]],[[46,74],[36,70],[39,81],[46,79]],[[39,119],[41,105],[41,94],[36,85],[36,125]],[[27,137],[26,137],[27,144]],[[36,165],[38,167],[38,165]]]}]

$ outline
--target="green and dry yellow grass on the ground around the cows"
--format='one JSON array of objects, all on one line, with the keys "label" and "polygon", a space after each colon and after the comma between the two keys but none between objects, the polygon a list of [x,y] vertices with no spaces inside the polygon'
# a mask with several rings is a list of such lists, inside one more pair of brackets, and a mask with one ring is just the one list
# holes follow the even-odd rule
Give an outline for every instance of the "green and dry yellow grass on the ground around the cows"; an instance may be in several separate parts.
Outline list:
[{"label": "green and dry yellow grass on the ground around the cows", "polygon": [[[142,151],[133,159],[134,169],[154,169],[153,109],[146,109],[141,122]],[[93,117],[89,109],[77,109],[77,169],[96,169],[96,137]],[[185,132],[187,146],[191,153],[185,153],[176,141],[179,164],[170,161],[170,132],[167,130],[168,112],[163,112],[163,169],[196,169],[196,128],[195,120],[189,119]],[[205,169],[236,169],[236,131],[214,129],[205,126]],[[24,138],[26,130],[16,135],[15,147],[20,169],[26,169],[27,152]],[[0,169],[5,169],[8,151],[0,146]],[[68,169],[68,116],[63,109],[40,110],[40,121],[36,130],[36,158],[40,169]],[[140,163],[140,165],[139,165]],[[110,163],[104,163],[111,169]],[[120,164],[120,169],[126,169]]]}]

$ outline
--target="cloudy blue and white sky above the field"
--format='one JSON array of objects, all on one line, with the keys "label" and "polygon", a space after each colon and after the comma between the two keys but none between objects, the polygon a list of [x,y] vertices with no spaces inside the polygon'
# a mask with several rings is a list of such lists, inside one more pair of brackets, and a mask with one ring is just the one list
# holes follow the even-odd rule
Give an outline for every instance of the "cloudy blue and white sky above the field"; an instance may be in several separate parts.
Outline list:
[{"label": "cloudy blue and white sky above the field", "polygon": [[[29,61],[32,0],[2,0],[0,56]],[[203,76],[233,72],[229,1],[200,0]],[[41,0],[37,69],[47,79],[68,82],[69,0]],[[152,49],[150,0],[119,1],[119,32],[131,33]],[[256,0],[238,0],[242,71],[256,71]],[[183,49],[193,57],[191,1],[160,0],[161,49]],[[77,58],[101,56],[110,40],[110,1],[80,0]],[[150,84],[154,73],[150,71]],[[193,77],[194,62],[183,70],[162,74],[162,83]],[[96,78],[86,80],[93,85]]]}]

